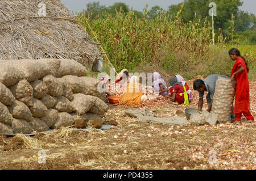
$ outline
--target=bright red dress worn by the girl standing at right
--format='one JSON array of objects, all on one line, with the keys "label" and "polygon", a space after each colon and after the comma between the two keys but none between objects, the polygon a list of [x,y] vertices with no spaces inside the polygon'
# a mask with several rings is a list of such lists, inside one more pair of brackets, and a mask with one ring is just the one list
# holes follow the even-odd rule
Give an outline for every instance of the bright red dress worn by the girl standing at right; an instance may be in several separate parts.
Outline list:
[{"label": "bright red dress worn by the girl standing at right", "polygon": [[234,105],[233,113],[242,114],[243,112],[243,115],[245,115],[245,113],[248,113],[249,110],[251,110],[251,108],[250,108],[249,79],[247,75],[247,68],[243,58],[241,57],[237,58],[236,63],[234,64],[233,69],[231,71],[230,77],[233,75],[233,73],[235,73],[237,70],[240,69],[240,66],[243,66],[245,70],[241,71],[240,73],[234,76],[234,78],[237,81],[237,86],[236,86],[235,105]]}]

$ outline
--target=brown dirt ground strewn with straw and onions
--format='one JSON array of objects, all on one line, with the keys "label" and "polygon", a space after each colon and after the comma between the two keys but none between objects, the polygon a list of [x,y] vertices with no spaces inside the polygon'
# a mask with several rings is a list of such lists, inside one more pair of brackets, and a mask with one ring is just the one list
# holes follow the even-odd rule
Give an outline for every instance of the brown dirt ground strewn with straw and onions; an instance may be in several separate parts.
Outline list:
[{"label": "brown dirt ground strewn with straw and onions", "polygon": [[[254,117],[255,85],[250,82]],[[177,110],[197,107],[198,95],[193,94],[189,106],[159,103],[147,108],[159,117],[175,116]],[[118,125],[104,131],[63,128],[34,137],[0,135],[0,169],[256,169],[254,123],[188,127],[139,123],[123,116],[126,108],[110,105],[104,119]],[[39,163],[42,149],[46,163]]]}]

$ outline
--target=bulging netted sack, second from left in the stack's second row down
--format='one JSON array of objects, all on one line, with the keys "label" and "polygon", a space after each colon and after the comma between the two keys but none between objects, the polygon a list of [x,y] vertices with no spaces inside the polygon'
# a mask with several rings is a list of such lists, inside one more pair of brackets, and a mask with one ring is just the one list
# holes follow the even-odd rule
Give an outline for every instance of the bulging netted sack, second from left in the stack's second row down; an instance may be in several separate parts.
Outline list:
[{"label": "bulging netted sack, second from left in the stack's second row down", "polygon": [[14,86],[9,87],[9,89],[20,102],[23,102],[26,105],[31,103],[34,90],[30,83],[25,79],[17,82]]}]

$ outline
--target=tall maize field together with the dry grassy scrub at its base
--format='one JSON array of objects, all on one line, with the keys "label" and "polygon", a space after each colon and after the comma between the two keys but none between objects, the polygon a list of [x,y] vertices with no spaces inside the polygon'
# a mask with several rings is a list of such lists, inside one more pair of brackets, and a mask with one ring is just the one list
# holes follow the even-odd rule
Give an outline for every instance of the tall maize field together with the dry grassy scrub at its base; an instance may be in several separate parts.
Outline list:
[{"label": "tall maize field together with the dry grassy scrub at its base", "polygon": [[[228,60],[228,47],[221,30],[216,33],[213,47],[212,27],[207,19],[204,23],[201,20],[183,23],[182,9],[183,6],[174,18],[158,14],[154,20],[148,20],[146,9],[142,18],[137,18],[131,10],[127,14],[119,11],[115,16],[102,14],[96,19],[84,11],[78,19],[90,24],[117,71],[133,71],[147,65],[187,78],[196,74],[229,75],[232,61]],[[93,37],[86,23],[84,27]],[[251,58],[248,61],[250,64]]]}]

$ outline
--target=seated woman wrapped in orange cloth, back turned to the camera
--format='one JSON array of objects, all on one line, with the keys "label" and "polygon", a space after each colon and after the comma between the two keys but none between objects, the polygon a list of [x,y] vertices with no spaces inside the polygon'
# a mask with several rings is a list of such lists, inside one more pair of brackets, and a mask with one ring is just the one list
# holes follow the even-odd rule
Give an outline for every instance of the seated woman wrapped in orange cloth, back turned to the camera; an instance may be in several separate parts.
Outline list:
[{"label": "seated woman wrapped in orange cloth, back turned to the camera", "polygon": [[135,106],[139,103],[145,102],[147,100],[147,96],[143,95],[141,89],[139,87],[139,77],[133,76],[131,77],[126,91],[122,94],[121,98],[118,100],[119,104],[125,106]]}]

